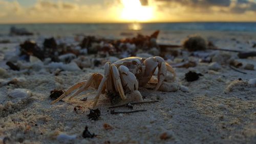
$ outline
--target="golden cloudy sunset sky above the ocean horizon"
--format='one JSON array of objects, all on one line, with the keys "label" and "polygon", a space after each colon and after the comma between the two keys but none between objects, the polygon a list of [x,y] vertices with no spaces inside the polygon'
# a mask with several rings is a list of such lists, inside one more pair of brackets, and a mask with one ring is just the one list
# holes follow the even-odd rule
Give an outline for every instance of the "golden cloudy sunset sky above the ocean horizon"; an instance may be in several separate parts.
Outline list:
[{"label": "golden cloudy sunset sky above the ocean horizon", "polygon": [[256,0],[0,0],[0,23],[256,22]]}]

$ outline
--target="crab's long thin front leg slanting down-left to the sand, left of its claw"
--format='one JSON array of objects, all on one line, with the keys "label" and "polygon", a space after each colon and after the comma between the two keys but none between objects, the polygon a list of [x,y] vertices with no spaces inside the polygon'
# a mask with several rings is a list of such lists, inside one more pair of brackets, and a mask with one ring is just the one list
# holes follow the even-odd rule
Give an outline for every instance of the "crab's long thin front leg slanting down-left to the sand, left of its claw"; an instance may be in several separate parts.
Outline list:
[{"label": "crab's long thin front leg slanting down-left to the sand, left of its claw", "polygon": [[104,66],[104,77],[103,79],[100,81],[100,84],[99,84],[99,87],[98,87],[98,90],[97,90],[97,95],[95,96],[95,101],[94,101],[94,104],[93,104],[93,107],[96,107],[97,105],[97,102],[99,100],[99,96],[100,94],[102,93],[102,90],[103,90],[103,87],[104,87],[104,84],[106,83],[106,80],[109,79],[109,76],[110,76],[110,63],[106,63],[105,66]]}]

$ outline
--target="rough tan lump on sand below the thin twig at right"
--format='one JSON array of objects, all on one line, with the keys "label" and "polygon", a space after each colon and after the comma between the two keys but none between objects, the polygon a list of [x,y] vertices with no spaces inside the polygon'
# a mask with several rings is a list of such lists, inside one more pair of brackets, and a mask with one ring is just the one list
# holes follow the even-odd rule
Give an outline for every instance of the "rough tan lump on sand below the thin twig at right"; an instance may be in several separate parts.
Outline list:
[{"label": "rough tan lump on sand below the thin twig at right", "polygon": [[226,92],[232,91],[244,91],[245,87],[247,87],[248,82],[242,79],[236,79],[231,81],[231,83],[226,87]]}]

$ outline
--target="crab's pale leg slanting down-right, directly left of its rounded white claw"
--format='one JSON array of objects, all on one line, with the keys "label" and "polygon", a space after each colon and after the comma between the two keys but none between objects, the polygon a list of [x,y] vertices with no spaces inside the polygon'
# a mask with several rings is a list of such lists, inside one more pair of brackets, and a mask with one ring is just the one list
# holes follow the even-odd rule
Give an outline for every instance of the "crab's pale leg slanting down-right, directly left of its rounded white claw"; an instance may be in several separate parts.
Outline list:
[{"label": "crab's pale leg slanting down-right, directly left of its rounded white claw", "polygon": [[118,71],[117,67],[115,65],[112,65],[111,70],[112,70],[112,76],[114,78],[115,88],[119,92],[121,98],[126,99],[126,96],[123,92],[123,86],[122,86],[122,82],[121,82],[121,79],[120,79],[120,74],[119,74],[119,71]]}]

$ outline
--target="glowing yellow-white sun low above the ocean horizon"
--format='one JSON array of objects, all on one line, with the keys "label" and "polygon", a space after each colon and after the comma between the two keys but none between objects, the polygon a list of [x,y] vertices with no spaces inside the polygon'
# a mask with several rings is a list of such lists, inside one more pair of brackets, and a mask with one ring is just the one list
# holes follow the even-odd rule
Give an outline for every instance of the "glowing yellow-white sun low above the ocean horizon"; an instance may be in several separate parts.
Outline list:
[{"label": "glowing yellow-white sun low above the ocean horizon", "polygon": [[121,19],[132,22],[148,22],[153,18],[153,8],[142,6],[140,0],[121,0]]}]

